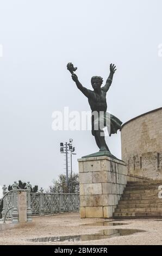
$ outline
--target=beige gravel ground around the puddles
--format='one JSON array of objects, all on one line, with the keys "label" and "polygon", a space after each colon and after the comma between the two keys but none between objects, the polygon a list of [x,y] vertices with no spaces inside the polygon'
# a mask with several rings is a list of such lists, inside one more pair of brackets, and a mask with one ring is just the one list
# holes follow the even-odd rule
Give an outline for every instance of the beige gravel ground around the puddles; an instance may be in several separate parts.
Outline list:
[{"label": "beige gravel ground around the puddles", "polygon": [[[24,224],[23,227],[0,231],[0,245],[162,245],[162,219],[159,221],[158,219],[122,221],[109,219],[107,221],[110,223],[128,223],[128,225],[82,225],[103,221],[102,218],[80,219],[78,212],[43,217],[35,216],[32,225]],[[133,235],[114,236],[92,241],[28,241],[29,239],[46,236],[92,235],[105,229],[140,229],[145,231]]]}]

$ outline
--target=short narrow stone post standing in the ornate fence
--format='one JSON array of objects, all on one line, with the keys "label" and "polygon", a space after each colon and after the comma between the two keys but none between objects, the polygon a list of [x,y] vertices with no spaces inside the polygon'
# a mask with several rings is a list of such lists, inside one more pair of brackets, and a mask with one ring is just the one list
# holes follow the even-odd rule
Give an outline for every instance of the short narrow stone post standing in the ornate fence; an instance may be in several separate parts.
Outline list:
[{"label": "short narrow stone post standing in the ornate fence", "polygon": [[18,222],[27,222],[27,192],[17,194]]}]

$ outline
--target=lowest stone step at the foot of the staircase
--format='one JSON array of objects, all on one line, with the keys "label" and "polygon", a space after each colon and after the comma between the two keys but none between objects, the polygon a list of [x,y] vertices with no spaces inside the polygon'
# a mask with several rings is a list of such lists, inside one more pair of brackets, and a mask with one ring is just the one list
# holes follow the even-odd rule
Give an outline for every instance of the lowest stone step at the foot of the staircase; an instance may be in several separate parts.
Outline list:
[{"label": "lowest stone step at the foot of the staircase", "polygon": [[162,218],[162,212],[115,212],[114,218]]}]

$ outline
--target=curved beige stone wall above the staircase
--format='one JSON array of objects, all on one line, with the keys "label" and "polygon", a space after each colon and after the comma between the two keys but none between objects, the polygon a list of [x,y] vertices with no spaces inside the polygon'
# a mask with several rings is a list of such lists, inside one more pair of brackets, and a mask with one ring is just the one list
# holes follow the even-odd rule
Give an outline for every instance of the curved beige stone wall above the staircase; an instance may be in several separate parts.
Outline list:
[{"label": "curved beige stone wall above the staircase", "polygon": [[128,174],[162,179],[162,108],[124,124],[121,145]]}]

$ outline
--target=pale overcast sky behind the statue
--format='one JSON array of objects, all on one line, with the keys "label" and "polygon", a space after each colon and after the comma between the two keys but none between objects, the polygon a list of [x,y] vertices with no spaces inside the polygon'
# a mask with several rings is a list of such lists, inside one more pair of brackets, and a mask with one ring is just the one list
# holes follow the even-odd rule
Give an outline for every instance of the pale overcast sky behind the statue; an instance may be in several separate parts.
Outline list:
[{"label": "pale overcast sky behind the statue", "polygon": [[[77,159],[98,151],[91,131],[53,131],[53,111],[88,111],[66,64],[91,88],[94,75],[117,71],[108,110],[124,122],[161,107],[160,0],[0,1],[0,185],[30,181],[47,188],[65,173],[60,142],[73,138]],[[108,138],[121,157],[120,132]]]}]

